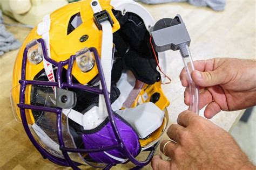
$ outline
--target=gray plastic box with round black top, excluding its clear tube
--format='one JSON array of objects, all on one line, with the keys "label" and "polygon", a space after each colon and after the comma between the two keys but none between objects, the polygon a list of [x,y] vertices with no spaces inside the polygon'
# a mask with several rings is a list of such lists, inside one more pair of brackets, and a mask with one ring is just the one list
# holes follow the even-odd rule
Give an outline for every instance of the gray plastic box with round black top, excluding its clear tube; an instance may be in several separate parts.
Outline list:
[{"label": "gray plastic box with round black top, excluding its clear tube", "polygon": [[154,48],[157,52],[164,52],[169,49],[176,51],[183,45],[190,45],[190,36],[186,26],[180,17],[160,19],[152,28]]}]

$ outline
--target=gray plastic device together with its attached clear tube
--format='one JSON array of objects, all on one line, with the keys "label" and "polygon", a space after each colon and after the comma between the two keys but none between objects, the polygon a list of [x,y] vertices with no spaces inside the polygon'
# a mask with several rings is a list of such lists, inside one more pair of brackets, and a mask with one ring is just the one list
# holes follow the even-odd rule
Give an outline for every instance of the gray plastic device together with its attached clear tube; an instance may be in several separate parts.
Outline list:
[{"label": "gray plastic device together with its attached clear tube", "polygon": [[190,53],[190,35],[180,15],[160,19],[151,29],[154,48],[157,52],[169,49],[180,50],[190,87],[190,110],[199,114],[199,87],[194,83],[191,73],[195,70]]}]

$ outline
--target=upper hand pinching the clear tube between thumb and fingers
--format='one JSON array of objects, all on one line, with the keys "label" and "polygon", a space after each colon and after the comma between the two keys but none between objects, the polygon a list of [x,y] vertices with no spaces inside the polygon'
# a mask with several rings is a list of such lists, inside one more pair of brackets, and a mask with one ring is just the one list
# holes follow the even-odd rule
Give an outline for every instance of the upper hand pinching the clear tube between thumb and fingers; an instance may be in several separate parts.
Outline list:
[{"label": "upper hand pinching the clear tube between thumb and fingers", "polygon": [[[191,74],[200,86],[199,109],[207,105],[206,118],[212,118],[221,110],[233,111],[256,105],[256,61],[215,58],[194,61]],[[180,73],[181,84],[186,87],[184,102],[190,104],[186,70]]]}]

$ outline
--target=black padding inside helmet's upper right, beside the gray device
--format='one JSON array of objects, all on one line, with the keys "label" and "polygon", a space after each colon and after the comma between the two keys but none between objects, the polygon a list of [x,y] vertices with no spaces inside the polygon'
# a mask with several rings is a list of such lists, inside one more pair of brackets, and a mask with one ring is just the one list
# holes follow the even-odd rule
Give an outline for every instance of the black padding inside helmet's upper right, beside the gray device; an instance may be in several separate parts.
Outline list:
[{"label": "black padding inside helmet's upper right, beside the gray device", "polygon": [[[151,49],[150,34],[143,20],[134,13],[127,12],[122,16],[120,12],[113,12],[122,26],[113,35],[117,53],[114,56],[116,63],[112,69],[112,81],[116,83],[120,79],[120,69],[131,70],[136,79],[147,84],[159,81],[160,74],[156,69],[157,62]],[[121,59],[122,67],[119,61]]]}]

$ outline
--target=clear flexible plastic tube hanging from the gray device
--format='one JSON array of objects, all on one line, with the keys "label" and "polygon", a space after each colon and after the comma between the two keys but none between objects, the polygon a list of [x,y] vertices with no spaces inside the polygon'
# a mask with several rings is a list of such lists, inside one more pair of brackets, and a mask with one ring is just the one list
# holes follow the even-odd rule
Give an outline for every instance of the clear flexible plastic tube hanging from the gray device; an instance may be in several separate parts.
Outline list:
[{"label": "clear flexible plastic tube hanging from the gray device", "polygon": [[182,56],[184,66],[187,73],[188,86],[190,88],[190,111],[196,112],[199,115],[199,87],[194,83],[191,73],[194,70],[193,60],[190,49],[187,44],[180,46],[180,54]]}]

